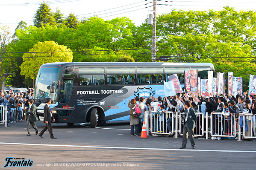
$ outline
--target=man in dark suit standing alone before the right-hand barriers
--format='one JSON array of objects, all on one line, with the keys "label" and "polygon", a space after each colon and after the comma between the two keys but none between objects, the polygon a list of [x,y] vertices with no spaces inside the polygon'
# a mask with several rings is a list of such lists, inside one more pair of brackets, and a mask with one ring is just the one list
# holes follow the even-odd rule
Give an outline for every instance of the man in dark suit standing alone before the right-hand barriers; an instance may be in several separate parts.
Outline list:
[{"label": "man in dark suit standing alone before the right-hand barriers", "polygon": [[195,122],[197,121],[197,116],[194,112],[194,109],[190,108],[191,103],[190,101],[185,101],[184,102],[184,107],[185,107],[185,116],[184,116],[184,127],[183,127],[183,136],[182,136],[182,146],[180,149],[185,149],[187,145],[187,133],[190,139],[190,143],[192,148],[195,148],[195,143],[194,143],[194,127],[195,127]]}]

